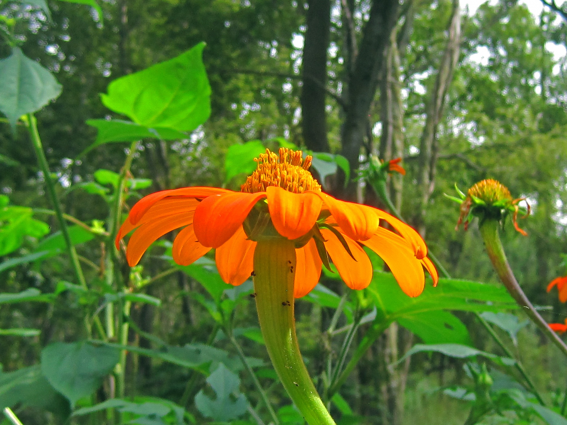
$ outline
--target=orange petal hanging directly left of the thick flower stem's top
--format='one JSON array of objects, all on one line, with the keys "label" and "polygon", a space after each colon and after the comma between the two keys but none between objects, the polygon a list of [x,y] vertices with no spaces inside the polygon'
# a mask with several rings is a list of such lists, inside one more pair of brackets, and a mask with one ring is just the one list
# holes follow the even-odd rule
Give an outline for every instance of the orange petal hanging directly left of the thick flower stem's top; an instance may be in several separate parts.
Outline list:
[{"label": "orange petal hanging directly left of the thick flower stem's top", "polygon": [[257,243],[246,238],[246,233],[240,226],[215,253],[218,273],[223,281],[231,285],[244,283],[254,270],[254,249]]}]

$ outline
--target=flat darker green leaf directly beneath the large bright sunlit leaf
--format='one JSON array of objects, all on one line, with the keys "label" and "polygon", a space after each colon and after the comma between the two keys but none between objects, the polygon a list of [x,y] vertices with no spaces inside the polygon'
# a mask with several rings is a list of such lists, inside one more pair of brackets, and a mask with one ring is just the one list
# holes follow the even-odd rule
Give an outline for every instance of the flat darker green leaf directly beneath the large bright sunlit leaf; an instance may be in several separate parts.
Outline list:
[{"label": "flat darker green leaf directly beneath the large bright sunlit leaf", "polygon": [[87,147],[79,157],[82,157],[92,148],[109,142],[133,142],[144,138],[161,140],[176,140],[187,138],[187,134],[170,128],[149,128],[132,121],[124,120],[87,120],[88,125],[98,130],[96,140]]}]

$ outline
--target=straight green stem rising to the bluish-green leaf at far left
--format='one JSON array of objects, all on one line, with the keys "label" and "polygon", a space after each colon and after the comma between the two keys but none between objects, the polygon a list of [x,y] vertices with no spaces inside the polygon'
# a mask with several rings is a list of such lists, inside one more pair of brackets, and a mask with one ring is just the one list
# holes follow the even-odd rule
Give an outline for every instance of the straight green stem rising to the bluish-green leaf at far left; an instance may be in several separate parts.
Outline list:
[{"label": "straight green stem rising to the bluish-green leaf at far left", "polygon": [[[53,210],[55,211],[55,215],[57,216],[57,221],[59,222],[59,226],[61,227],[61,233],[65,239],[65,244],[67,246],[67,252],[69,252],[69,257],[71,259],[71,266],[73,267],[73,271],[75,272],[75,276],[77,277],[77,281],[79,284],[84,288],[88,289],[87,281],[84,279],[83,270],[81,269],[81,264],[79,264],[79,256],[77,255],[77,250],[73,245],[73,241],[71,241],[71,236],[69,235],[69,230],[67,229],[67,223],[65,222],[65,215],[63,211],[61,211],[61,203],[59,202],[59,198],[57,197],[57,192],[55,190],[55,185],[53,184],[53,180],[51,179],[51,171],[49,170],[49,164],[47,162],[47,158],[45,158],[45,152],[43,150],[43,145],[41,143],[41,138],[39,136],[39,131],[37,131],[37,120],[33,114],[26,115],[27,126],[29,130],[29,134],[31,135],[33,150],[35,150],[35,154],[37,157],[37,163],[43,172],[43,176],[45,179],[45,186],[47,188],[47,193],[49,199],[53,205]],[[100,321],[98,316],[94,317],[95,323]],[[84,325],[87,330],[88,337],[91,336],[91,324],[88,321],[88,318],[84,318]],[[100,329],[98,323],[96,323],[96,329]],[[104,334],[100,335],[103,339],[105,337]]]}]

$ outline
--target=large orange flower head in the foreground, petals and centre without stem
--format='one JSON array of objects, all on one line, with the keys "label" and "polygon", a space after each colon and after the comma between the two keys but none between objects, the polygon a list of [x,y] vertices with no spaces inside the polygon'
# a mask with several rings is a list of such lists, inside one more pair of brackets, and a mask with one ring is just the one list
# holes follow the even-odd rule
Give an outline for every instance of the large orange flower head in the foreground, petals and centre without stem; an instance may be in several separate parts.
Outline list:
[{"label": "large orange flower head in the foreground, petals and centre without stem", "polygon": [[[133,206],[116,237],[134,228],[126,250],[130,266],[159,237],[184,227],[173,244],[174,261],[189,265],[215,248],[221,278],[239,285],[253,273],[257,240],[285,237],[295,243],[297,264],[294,296],[302,297],[319,281],[329,258],[345,283],[363,289],[372,278],[372,265],[362,245],[386,262],[402,290],[421,294],[425,267],[437,284],[438,274],[421,236],[390,214],[367,205],[345,202],[321,192],[307,169],[311,156],[281,148],[266,150],[240,192],[192,187],[150,194]],[[380,219],[399,234],[379,227]]]}]

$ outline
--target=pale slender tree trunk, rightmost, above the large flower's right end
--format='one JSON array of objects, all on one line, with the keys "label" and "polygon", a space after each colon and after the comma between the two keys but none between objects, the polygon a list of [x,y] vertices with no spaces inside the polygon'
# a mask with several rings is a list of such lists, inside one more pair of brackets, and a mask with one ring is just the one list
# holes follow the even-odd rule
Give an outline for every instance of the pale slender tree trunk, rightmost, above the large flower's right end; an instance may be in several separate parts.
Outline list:
[{"label": "pale slender tree trunk, rightmost, above the large flower's right end", "polygon": [[420,164],[418,184],[421,188],[421,205],[416,223],[421,236],[425,236],[425,213],[431,193],[435,187],[435,167],[437,165],[437,129],[445,107],[445,99],[452,81],[453,71],[459,59],[460,44],[460,7],[459,0],[453,0],[451,19],[448,27],[448,39],[445,53],[437,77],[433,93],[426,105],[425,128],[421,134]]}]

